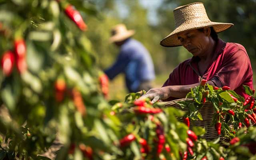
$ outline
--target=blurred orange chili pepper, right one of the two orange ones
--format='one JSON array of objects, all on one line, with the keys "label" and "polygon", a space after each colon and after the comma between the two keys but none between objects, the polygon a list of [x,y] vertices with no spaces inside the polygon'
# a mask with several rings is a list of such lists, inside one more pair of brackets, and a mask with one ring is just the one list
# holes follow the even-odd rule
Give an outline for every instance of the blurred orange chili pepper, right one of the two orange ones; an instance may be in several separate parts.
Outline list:
[{"label": "blurred orange chili pepper, right one of the two orange ones", "polygon": [[82,116],[85,116],[86,115],[86,106],[84,105],[81,93],[78,90],[76,90],[75,88],[72,90],[72,98],[73,98],[74,104],[75,104],[78,112],[80,112],[82,114]]}]

